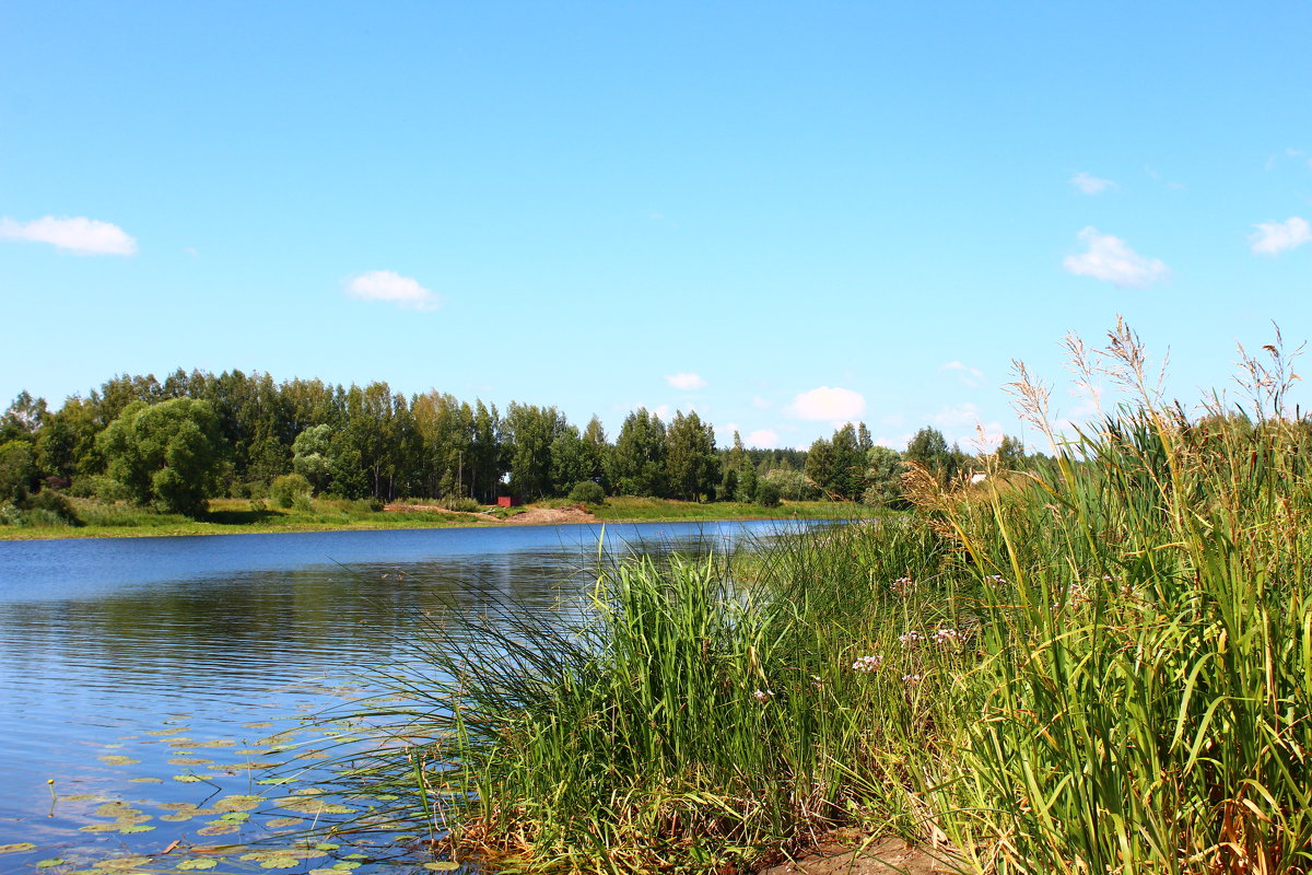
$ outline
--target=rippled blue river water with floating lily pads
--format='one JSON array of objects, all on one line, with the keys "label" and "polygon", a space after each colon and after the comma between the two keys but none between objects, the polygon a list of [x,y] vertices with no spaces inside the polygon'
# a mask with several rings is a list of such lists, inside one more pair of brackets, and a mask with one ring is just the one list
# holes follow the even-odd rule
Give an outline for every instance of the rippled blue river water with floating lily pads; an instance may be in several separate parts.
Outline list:
[{"label": "rippled blue river water with floating lily pads", "polygon": [[[719,550],[778,526],[610,526],[606,538],[615,551]],[[0,872],[304,829],[324,816],[297,796],[324,757],[324,728],[310,716],[375,691],[369,666],[404,659],[419,618],[491,598],[559,610],[590,580],[598,535],[560,526],[0,542],[0,850],[38,846],[0,853]],[[272,783],[289,762],[302,779]],[[281,871],[350,862],[350,850]],[[172,859],[139,865],[172,870]],[[224,865],[268,871],[235,854]]]}]

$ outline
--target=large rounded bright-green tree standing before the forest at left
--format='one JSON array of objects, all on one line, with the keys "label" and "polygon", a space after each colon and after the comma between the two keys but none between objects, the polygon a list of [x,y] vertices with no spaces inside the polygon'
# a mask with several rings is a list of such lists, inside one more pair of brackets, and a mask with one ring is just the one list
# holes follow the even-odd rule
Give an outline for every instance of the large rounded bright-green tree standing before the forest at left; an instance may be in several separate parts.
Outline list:
[{"label": "large rounded bright-green tree standing before the forest at left", "polygon": [[199,516],[219,485],[226,446],[207,401],[133,401],[97,438],[110,478],[136,504]]}]

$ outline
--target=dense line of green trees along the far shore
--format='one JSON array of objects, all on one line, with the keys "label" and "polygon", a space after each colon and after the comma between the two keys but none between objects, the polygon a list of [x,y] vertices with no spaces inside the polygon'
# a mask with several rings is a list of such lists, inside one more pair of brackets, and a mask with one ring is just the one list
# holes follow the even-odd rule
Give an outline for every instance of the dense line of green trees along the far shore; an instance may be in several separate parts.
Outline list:
[{"label": "dense line of green trees along the far shore", "polygon": [[[1023,447],[1006,438],[1010,463]],[[583,428],[555,407],[504,411],[387,383],[276,383],[268,374],[177,370],[115,376],[58,409],[22,392],[0,418],[0,501],[46,491],[199,513],[210,497],[258,499],[289,479],[318,495],[391,501],[533,501],[605,495],[686,501],[833,499],[897,501],[904,459],[945,479],[972,458],[932,428],[904,453],[845,425],[808,451],[716,447],[695,412],[665,422],[639,408],[610,439],[594,416]]]}]

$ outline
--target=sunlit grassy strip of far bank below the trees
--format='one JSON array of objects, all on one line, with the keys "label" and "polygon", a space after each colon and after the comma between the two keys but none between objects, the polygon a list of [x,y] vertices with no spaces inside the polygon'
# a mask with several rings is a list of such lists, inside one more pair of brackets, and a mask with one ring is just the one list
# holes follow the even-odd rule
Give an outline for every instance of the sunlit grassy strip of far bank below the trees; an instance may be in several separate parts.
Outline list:
[{"label": "sunlit grassy strip of far bank below the trees", "polygon": [[[315,499],[299,508],[278,508],[268,501],[214,499],[209,513],[198,519],[181,514],[157,513],[122,502],[71,499],[81,525],[56,517],[42,525],[0,525],[0,540],[42,538],[146,538],[168,535],[264,534],[277,531],[345,531],[367,529],[449,529],[470,526],[525,525],[537,508],[558,508],[564,500],[513,508],[480,508],[479,512],[424,509],[424,502],[401,510],[382,510],[367,501]],[[695,522],[716,519],[850,518],[880,512],[865,505],[828,501],[796,501],[774,506],[743,502],[698,504],[666,499],[607,499],[588,508],[600,522]]]}]

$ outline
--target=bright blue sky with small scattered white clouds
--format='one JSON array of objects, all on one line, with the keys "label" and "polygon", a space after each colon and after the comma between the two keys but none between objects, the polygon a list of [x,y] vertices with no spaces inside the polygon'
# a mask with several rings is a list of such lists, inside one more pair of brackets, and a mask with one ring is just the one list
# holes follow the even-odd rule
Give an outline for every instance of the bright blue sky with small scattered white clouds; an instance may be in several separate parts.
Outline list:
[{"label": "bright blue sky with small scattered white clouds", "polygon": [[1021,433],[1013,358],[1086,415],[1060,341],[1118,314],[1185,400],[1312,335],[1302,4],[0,18],[5,400],[236,367],[964,445]]}]

